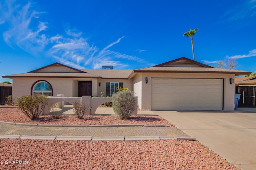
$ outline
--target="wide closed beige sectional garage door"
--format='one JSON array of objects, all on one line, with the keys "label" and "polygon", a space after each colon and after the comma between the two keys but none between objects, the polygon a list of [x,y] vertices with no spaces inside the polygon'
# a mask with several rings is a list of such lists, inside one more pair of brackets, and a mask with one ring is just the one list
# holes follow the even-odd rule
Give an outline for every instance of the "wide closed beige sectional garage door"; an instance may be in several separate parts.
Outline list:
[{"label": "wide closed beige sectional garage door", "polygon": [[223,79],[152,78],[152,110],[222,110]]}]

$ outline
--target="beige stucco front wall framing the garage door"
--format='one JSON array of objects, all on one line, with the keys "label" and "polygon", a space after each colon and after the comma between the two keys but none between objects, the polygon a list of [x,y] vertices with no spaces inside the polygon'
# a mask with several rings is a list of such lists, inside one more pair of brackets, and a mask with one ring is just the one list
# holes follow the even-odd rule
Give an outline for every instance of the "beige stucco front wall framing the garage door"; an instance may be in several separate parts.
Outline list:
[{"label": "beige stucco front wall framing the garage door", "polygon": [[[151,78],[222,78],[223,86],[223,109],[225,111],[234,110],[235,84],[230,84],[229,79],[234,78],[234,74],[210,74],[210,73],[142,73],[142,110],[151,110]],[[145,79],[148,77],[148,83]],[[140,105],[140,104],[139,104]]]}]

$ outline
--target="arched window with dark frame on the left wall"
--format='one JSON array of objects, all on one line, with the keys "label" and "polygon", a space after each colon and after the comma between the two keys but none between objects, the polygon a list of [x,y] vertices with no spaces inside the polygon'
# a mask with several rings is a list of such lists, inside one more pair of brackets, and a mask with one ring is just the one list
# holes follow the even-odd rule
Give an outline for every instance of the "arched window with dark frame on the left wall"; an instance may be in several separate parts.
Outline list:
[{"label": "arched window with dark frame on the left wall", "polygon": [[52,96],[52,86],[46,81],[38,81],[34,83],[32,94],[43,94]]}]

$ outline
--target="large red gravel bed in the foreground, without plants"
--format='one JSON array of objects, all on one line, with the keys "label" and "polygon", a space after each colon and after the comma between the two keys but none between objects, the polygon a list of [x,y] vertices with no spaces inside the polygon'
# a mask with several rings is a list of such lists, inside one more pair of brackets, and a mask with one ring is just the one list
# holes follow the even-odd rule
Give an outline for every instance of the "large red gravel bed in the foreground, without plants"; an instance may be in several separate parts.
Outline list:
[{"label": "large red gravel bed in the foreground, without plants", "polygon": [[[236,170],[198,141],[0,139],[0,169]],[[13,163],[14,161],[14,163]],[[24,164],[15,164],[22,161]],[[6,162],[5,162],[6,163]]]}]

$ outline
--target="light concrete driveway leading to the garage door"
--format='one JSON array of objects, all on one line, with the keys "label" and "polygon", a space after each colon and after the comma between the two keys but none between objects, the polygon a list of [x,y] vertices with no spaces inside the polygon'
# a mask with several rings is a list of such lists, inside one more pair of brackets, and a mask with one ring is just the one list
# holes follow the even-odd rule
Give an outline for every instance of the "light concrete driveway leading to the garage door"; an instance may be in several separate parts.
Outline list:
[{"label": "light concrete driveway leading to the garage door", "polygon": [[256,170],[256,108],[226,111],[139,111],[155,114],[242,170]]}]

